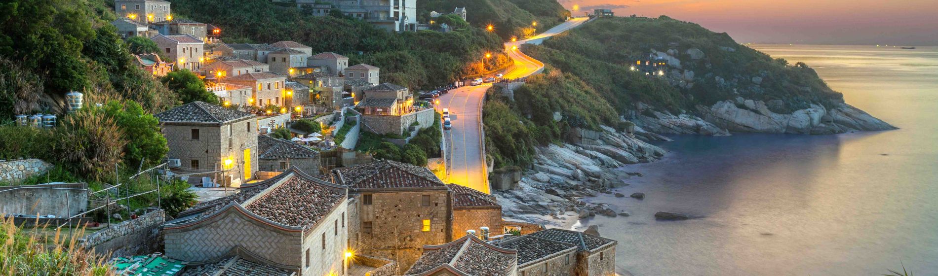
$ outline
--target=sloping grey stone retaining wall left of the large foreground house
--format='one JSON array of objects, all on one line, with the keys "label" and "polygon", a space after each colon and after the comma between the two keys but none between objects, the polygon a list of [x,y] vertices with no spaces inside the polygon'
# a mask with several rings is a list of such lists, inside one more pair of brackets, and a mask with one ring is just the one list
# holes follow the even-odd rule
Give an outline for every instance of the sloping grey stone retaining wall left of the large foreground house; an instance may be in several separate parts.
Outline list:
[{"label": "sloping grey stone retaining wall left of the large foreground house", "polygon": [[100,254],[124,256],[150,254],[159,251],[159,226],[165,222],[165,212],[151,211],[144,215],[82,238],[85,248]]}]

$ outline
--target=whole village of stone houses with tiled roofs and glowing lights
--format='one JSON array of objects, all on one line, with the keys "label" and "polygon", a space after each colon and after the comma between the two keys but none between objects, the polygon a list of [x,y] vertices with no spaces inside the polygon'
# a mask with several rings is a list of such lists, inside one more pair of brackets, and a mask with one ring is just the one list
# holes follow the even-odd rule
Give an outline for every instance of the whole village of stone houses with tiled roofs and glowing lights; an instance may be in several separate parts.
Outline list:
[{"label": "whole village of stone houses with tiled roofs and glowing lights", "polygon": [[[416,0],[347,2],[295,4],[389,32],[431,29],[417,22]],[[77,246],[111,253],[118,275],[614,273],[617,241],[504,218],[495,196],[446,182],[442,108],[381,83],[390,72],[295,41],[226,43],[212,22],[175,19],[170,1],[113,5],[118,36],[144,37],[159,50],[134,54],[135,66],[204,89],[152,115],[168,151],[140,160],[127,183],[95,192],[68,180],[0,186],[2,198],[15,198],[0,209],[12,223],[86,227]],[[466,12],[431,16],[465,20]],[[67,100],[69,113],[109,107],[81,92]],[[55,120],[22,115],[13,123],[44,128]],[[401,153],[388,158],[390,151]],[[10,173],[0,177],[23,181],[55,169],[51,161],[4,160]],[[129,188],[142,179],[155,181],[153,189]],[[180,199],[189,203],[180,210],[161,208],[170,192],[160,189],[175,183],[197,197]],[[131,197],[147,194],[156,206],[131,210]]]}]

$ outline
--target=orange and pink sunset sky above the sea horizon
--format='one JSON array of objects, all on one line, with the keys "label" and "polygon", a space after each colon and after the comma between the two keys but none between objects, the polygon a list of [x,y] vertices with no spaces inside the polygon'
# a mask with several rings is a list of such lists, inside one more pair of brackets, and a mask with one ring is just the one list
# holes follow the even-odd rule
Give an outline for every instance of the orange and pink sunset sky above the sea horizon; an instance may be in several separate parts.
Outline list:
[{"label": "orange and pink sunset sky above the sea horizon", "polygon": [[938,46],[938,0],[558,0],[616,16],[667,15],[740,43]]}]

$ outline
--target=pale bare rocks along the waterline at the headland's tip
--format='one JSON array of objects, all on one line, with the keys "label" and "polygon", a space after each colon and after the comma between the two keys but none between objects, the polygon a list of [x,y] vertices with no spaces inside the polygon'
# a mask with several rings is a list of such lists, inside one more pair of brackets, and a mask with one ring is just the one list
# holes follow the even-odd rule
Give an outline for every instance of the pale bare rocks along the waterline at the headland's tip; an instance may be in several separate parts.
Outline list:
[{"label": "pale bare rocks along the waterline at the headland's tip", "polygon": [[890,130],[896,127],[847,104],[834,109],[812,104],[791,114],[769,110],[763,101],[736,98],[712,107],[699,107],[704,120],[737,132],[838,134],[849,131]]}]

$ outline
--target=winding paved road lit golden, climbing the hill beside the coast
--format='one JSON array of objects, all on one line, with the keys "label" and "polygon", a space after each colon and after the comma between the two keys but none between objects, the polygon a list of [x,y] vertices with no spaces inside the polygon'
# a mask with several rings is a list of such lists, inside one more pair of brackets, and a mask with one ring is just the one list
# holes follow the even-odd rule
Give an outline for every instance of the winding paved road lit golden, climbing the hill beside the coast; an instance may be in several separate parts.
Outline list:
[{"label": "winding paved road lit golden, climbing the hill beside the coast", "polygon": [[[563,33],[576,27],[586,18],[576,18],[554,26],[543,34],[505,43],[508,56],[515,65],[505,74],[507,79],[518,79],[539,73],[544,64],[531,58],[517,49],[524,43],[540,44],[545,37]],[[513,49],[514,48],[514,49]],[[485,166],[485,153],[482,151],[482,124],[480,113],[485,91],[492,87],[492,83],[477,86],[464,86],[451,90],[438,98],[440,104],[438,111],[449,109],[452,129],[446,130],[446,147],[449,151],[446,160],[448,177],[446,182],[467,186],[477,191],[491,194],[489,190],[488,173]]]}]

